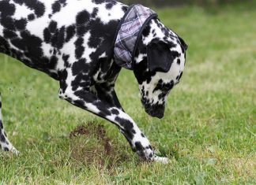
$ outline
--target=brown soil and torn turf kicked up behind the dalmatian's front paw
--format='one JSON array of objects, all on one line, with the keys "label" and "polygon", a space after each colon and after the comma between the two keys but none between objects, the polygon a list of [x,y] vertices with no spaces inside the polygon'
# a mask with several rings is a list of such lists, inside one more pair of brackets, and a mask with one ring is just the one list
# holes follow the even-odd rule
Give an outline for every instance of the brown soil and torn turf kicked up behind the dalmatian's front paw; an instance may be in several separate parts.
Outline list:
[{"label": "brown soil and torn turf kicked up behind the dalmatian's front paw", "polygon": [[71,156],[84,165],[97,165],[112,168],[114,165],[129,158],[121,154],[126,149],[111,142],[107,137],[104,126],[89,122],[77,126],[70,132]]}]

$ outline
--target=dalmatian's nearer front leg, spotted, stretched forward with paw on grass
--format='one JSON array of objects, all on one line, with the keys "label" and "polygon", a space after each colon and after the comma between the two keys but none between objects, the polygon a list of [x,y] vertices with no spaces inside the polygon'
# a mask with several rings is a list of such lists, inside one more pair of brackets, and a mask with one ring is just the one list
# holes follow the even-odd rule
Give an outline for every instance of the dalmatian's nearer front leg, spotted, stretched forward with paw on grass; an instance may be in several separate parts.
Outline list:
[{"label": "dalmatian's nearer front leg, spotted, stretched forward with paw on grass", "polygon": [[[73,91],[74,89],[77,90]],[[117,125],[130,143],[132,150],[137,152],[141,158],[146,161],[168,162],[167,158],[155,156],[149,140],[145,138],[145,135],[142,134],[134,120],[128,114],[124,113],[121,108],[110,105],[108,102],[97,97],[96,94],[92,94],[85,89],[79,90],[79,88],[66,86],[63,89],[61,87],[59,96],[73,105],[81,109],[86,109]]]}]

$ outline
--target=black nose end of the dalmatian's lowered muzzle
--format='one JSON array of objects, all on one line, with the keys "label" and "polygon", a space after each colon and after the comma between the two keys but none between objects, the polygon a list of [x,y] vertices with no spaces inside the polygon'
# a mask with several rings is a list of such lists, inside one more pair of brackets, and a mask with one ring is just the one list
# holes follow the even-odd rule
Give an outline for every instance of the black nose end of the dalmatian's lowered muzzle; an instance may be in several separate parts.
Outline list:
[{"label": "black nose end of the dalmatian's lowered muzzle", "polygon": [[164,105],[149,105],[149,104],[145,104],[144,105],[145,108],[145,112],[149,114],[149,116],[151,117],[157,117],[159,119],[164,117],[164,109],[165,106]]}]

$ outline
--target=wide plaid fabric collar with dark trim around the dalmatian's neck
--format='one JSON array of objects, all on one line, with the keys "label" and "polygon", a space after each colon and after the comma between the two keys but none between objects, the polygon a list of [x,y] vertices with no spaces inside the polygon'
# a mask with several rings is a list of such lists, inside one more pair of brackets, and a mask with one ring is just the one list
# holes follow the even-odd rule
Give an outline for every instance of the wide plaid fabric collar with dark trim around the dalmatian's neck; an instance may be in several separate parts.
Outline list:
[{"label": "wide plaid fabric collar with dark trim around the dalmatian's neck", "polygon": [[115,34],[114,59],[120,67],[134,68],[134,52],[137,49],[145,25],[157,14],[145,6],[133,5],[127,9]]}]

